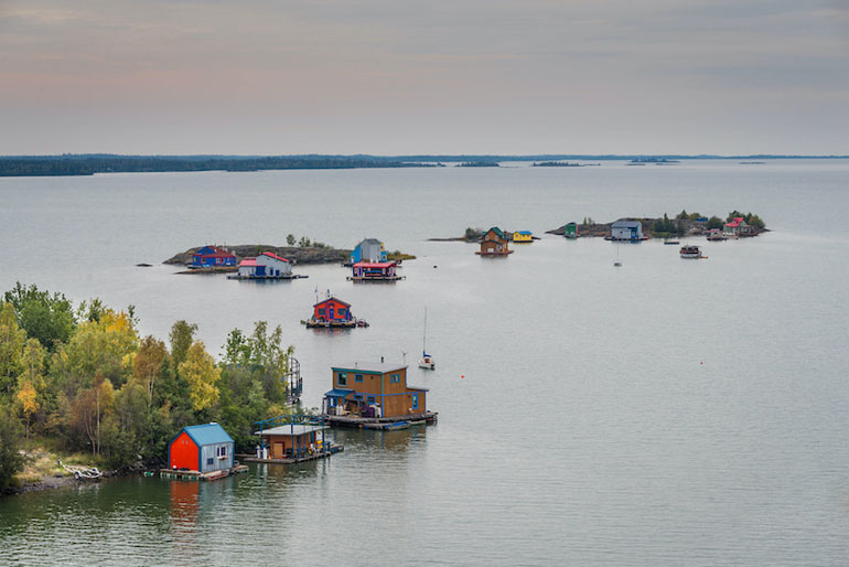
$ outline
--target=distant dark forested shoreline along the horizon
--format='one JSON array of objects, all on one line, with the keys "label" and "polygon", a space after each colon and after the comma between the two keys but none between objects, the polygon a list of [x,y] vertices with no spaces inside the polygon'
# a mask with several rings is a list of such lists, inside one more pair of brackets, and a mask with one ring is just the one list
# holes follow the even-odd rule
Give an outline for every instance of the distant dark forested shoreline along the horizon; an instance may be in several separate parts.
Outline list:
[{"label": "distant dark forested shoreline along the horizon", "polygon": [[[175,173],[197,171],[270,171],[312,169],[439,168],[444,162],[497,165],[505,161],[556,162],[673,160],[802,160],[849,159],[849,156],[685,156],[685,154],[533,154],[533,156],[119,156],[82,153],[62,156],[0,156],[0,176],[77,176],[95,173]],[[468,165],[466,165],[468,167]]]}]

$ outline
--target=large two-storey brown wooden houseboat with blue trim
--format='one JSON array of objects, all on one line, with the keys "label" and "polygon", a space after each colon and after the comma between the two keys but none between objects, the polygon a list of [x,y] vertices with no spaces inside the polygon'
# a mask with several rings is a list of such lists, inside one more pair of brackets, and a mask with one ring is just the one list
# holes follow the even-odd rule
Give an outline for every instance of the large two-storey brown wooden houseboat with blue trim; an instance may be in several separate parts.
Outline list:
[{"label": "large two-storey brown wooden houseboat with blue trim", "polygon": [[331,426],[437,420],[437,414],[428,411],[427,388],[407,385],[406,364],[354,362],[331,370],[333,389],[323,402]]}]

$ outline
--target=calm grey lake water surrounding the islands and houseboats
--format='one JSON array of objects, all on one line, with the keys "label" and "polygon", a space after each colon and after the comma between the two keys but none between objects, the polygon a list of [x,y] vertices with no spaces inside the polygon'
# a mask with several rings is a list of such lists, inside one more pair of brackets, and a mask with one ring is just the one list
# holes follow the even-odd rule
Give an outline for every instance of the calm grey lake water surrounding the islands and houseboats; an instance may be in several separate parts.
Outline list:
[{"label": "calm grey lake water surrounding the islands and houseboats", "polygon": [[[0,563],[846,564],[849,161],[516,165],[0,179],[0,289],[135,304],[162,339],[186,319],[213,353],[235,327],[280,324],[309,406],[331,364],[415,363],[427,306],[438,370],[409,382],[439,411],[427,429],[334,431],[345,451],[324,462],[0,500]],[[752,211],[773,232],[695,242],[701,261],[542,234],[681,208]],[[491,225],[542,239],[495,260],[426,242]],[[419,258],[395,285],[159,264],[289,233]],[[316,289],[372,327],[305,330]]]}]

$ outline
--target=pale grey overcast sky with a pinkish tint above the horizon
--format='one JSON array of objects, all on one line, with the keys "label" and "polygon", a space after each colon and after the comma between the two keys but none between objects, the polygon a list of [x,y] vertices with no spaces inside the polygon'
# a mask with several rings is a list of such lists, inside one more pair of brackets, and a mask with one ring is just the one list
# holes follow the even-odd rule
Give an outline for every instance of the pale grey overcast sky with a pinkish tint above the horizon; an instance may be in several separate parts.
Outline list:
[{"label": "pale grey overcast sky with a pinkish tint above the horizon", "polygon": [[849,154],[849,0],[0,0],[0,154]]}]

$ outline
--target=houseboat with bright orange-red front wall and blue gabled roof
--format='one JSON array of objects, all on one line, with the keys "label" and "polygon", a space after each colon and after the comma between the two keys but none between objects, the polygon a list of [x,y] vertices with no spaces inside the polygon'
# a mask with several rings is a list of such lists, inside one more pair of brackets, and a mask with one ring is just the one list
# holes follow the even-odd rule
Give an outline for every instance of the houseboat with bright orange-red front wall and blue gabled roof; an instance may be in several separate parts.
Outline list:
[{"label": "houseboat with bright orange-red front wall and blue gabled roof", "polygon": [[168,469],[160,475],[215,480],[247,470],[235,461],[235,442],[218,424],[184,427],[168,443]]}]

